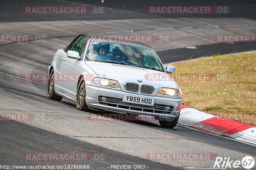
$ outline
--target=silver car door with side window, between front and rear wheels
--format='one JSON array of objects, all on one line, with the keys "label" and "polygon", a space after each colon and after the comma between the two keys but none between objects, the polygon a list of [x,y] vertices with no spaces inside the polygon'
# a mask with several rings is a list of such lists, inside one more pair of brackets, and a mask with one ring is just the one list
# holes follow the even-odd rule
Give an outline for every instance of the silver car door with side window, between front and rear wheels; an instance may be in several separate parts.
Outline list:
[{"label": "silver car door with side window, between front and rear wheels", "polygon": [[60,89],[63,90],[66,95],[74,99],[74,96],[76,96],[76,90],[73,90],[72,87],[74,86],[74,83],[77,83],[76,79],[76,67],[79,64],[79,62],[82,62],[82,60],[76,60],[68,58],[67,52],[69,50],[76,51],[79,53],[79,56],[82,58],[82,55],[84,53],[84,49],[87,43],[87,37],[84,35],[81,35],[80,37],[77,37],[67,48],[65,53],[62,54],[62,62],[60,66]]}]

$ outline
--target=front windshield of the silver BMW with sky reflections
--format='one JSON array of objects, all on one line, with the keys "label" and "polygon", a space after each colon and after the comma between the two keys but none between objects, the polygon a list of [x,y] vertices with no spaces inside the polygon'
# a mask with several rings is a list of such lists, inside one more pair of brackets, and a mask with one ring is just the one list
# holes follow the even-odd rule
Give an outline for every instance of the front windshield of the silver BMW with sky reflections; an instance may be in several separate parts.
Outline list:
[{"label": "front windshield of the silver BMW with sky reflections", "polygon": [[110,62],[164,71],[164,68],[151,48],[111,40],[92,39],[85,60]]}]

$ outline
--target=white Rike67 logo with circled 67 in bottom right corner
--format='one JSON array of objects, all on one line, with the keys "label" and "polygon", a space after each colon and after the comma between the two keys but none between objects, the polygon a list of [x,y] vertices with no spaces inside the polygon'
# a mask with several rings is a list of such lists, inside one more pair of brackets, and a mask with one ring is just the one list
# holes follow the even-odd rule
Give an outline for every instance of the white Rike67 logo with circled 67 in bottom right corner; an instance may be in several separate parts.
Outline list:
[{"label": "white Rike67 logo with circled 67 in bottom right corner", "polygon": [[251,169],[254,166],[254,159],[251,156],[245,156],[242,161],[240,160],[231,160],[230,157],[225,157],[222,159],[221,157],[217,157],[214,163],[214,168],[242,168],[241,165],[245,169]]}]

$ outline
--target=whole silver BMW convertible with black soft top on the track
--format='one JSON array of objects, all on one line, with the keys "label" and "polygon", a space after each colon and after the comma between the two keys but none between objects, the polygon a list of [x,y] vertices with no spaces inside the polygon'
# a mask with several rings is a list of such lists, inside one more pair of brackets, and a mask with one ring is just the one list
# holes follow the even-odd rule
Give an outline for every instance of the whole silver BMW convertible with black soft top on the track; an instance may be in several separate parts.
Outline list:
[{"label": "whole silver BMW convertible with black soft top on the track", "polygon": [[[47,97],[65,97],[78,110],[115,110],[154,116],[173,128],[180,116],[181,89],[148,45],[77,35],[48,67]],[[167,74],[168,73],[168,74]]]}]

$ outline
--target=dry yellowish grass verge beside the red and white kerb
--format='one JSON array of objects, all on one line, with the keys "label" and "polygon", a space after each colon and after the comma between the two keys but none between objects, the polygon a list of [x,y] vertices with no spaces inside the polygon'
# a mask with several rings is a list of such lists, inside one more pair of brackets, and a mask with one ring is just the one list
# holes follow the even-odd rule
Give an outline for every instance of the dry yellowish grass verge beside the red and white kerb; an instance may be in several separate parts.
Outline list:
[{"label": "dry yellowish grass verge beside the red and white kerb", "polygon": [[169,74],[182,103],[216,116],[256,125],[256,53],[215,55],[179,64]]}]

